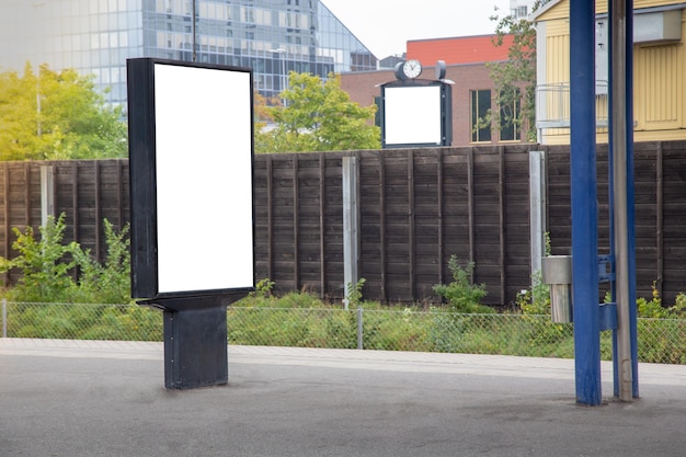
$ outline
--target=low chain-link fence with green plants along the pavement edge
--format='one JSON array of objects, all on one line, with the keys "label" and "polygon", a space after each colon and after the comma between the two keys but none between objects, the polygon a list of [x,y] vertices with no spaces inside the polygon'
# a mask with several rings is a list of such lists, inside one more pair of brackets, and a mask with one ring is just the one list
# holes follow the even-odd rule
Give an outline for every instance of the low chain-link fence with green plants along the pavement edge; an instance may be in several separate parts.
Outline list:
[{"label": "low chain-link fence with green plants along the pavement edge", "polygon": [[[229,307],[237,345],[574,356],[572,324],[549,316],[460,315],[436,310]],[[162,313],[136,305],[2,301],[2,336],[162,341]],[[686,364],[686,320],[639,319],[639,361]],[[611,357],[611,332],[601,335]]]}]

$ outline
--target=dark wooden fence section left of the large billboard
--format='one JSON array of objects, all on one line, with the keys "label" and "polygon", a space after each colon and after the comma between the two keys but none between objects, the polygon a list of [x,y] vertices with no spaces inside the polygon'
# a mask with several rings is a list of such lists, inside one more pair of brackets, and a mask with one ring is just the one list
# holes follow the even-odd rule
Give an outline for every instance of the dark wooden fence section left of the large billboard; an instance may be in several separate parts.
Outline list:
[{"label": "dark wooden fence section left of the large billboard", "polygon": [[0,162],[0,255],[14,256],[13,228],[36,233],[46,215],[65,214],[65,241],[79,241],[102,260],[103,219],[129,220],[128,160]]}]

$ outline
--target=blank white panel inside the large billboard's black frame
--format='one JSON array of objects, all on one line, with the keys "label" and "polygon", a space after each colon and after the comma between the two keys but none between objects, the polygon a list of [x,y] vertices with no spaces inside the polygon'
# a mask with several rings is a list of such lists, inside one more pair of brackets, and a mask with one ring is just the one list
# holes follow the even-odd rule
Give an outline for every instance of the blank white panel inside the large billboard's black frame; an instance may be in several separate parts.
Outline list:
[{"label": "blank white panel inside the large billboard's black frame", "polygon": [[153,73],[158,293],[253,287],[251,75]]}]

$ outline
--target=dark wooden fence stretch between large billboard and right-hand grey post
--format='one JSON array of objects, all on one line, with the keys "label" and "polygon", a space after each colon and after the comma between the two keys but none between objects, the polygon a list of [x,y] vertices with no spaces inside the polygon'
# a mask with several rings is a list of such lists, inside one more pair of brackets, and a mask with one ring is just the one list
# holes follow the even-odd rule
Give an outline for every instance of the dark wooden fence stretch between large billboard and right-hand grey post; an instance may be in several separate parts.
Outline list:
[{"label": "dark wooden fence stretch between large billboard and right-hand grey post", "polygon": [[[359,276],[381,301],[436,300],[447,260],[472,260],[489,302],[529,283],[528,153],[519,147],[359,151]],[[342,158],[258,158],[258,272],[342,297]],[[265,240],[266,242],[262,242]]]}]

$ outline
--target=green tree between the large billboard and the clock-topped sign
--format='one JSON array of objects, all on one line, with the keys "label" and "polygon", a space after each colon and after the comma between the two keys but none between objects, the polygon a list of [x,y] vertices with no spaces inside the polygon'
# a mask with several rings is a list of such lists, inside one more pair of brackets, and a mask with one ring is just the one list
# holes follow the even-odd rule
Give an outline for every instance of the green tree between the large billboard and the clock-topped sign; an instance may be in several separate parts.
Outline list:
[{"label": "green tree between the large billboard and the clock-topped sign", "polygon": [[371,125],[376,106],[363,107],[341,89],[340,76],[290,72],[281,93],[284,106],[268,107],[274,127],[255,134],[258,152],[378,149],[380,129]]}]

